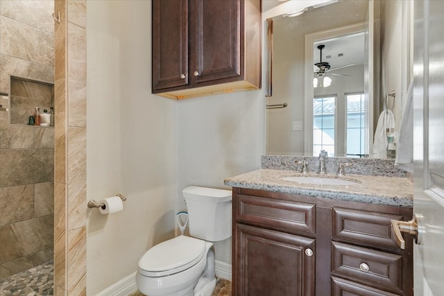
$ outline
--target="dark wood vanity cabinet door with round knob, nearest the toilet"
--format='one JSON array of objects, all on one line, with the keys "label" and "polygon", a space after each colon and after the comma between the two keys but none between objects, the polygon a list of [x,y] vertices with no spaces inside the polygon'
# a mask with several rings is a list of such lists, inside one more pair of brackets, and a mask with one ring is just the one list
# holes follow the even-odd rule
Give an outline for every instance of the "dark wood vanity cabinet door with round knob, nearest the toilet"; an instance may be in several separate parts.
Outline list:
[{"label": "dark wood vanity cabinet door with round knob, nearest the toilet", "polygon": [[314,295],[314,239],[239,223],[234,232],[233,295]]}]

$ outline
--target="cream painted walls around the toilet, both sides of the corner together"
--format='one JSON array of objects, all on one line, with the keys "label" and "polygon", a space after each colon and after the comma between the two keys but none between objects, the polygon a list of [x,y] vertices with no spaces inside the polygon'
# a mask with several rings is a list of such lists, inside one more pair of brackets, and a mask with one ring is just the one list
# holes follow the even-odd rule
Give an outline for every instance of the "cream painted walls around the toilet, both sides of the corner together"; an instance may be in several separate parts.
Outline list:
[{"label": "cream painted walls around the toilet, both sides of the corner together", "polygon": [[[87,294],[137,270],[173,236],[189,185],[228,187],[260,167],[264,90],[190,98],[151,94],[151,1],[87,1],[87,199],[122,193],[123,211],[88,211]],[[231,240],[216,243],[231,263]]]}]

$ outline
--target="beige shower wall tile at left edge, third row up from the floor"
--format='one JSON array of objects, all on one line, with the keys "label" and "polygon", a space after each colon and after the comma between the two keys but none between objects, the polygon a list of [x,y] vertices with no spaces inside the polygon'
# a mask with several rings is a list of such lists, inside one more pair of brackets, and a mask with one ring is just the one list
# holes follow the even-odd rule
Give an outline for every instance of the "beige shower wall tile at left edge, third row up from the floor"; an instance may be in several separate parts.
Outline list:
[{"label": "beige shower wall tile at left edge, third row up from the floor", "polygon": [[34,185],[0,188],[0,225],[33,218]]}]

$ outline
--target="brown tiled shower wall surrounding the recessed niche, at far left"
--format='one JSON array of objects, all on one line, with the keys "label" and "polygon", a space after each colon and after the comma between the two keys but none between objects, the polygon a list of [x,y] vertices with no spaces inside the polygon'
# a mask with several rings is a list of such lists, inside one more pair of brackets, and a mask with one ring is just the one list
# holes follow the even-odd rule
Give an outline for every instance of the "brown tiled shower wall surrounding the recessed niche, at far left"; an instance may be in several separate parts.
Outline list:
[{"label": "brown tiled shower wall surrounding the recessed niche, at far left", "polygon": [[[10,93],[10,76],[54,82],[52,12],[53,1],[0,1],[0,93]],[[0,101],[10,107],[0,112],[0,277],[6,277],[53,259],[54,129],[10,124],[17,106],[9,106],[9,96]]]}]

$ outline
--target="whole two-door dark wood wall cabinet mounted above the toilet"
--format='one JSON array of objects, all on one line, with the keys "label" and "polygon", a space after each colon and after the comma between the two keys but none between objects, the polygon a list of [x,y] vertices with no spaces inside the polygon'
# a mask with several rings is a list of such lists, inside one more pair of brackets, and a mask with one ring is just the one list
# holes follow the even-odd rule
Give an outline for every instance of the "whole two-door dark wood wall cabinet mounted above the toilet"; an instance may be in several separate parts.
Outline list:
[{"label": "whole two-door dark wood wall cabinet mounted above the toilet", "polygon": [[259,89],[260,0],[153,0],[153,94]]}]

